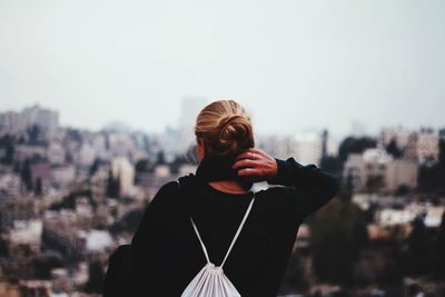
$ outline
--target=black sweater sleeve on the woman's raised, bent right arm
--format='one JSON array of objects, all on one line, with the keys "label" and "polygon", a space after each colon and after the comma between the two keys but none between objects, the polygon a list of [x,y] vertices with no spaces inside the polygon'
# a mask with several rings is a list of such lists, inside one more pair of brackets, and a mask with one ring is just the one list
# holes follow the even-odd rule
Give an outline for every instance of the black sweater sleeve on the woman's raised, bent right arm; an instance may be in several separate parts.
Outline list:
[{"label": "black sweater sleeve on the woman's raised, bent right arm", "polygon": [[277,159],[278,172],[267,180],[271,185],[281,185],[301,219],[325,206],[339,190],[339,180],[314,164],[301,165],[293,157]]}]

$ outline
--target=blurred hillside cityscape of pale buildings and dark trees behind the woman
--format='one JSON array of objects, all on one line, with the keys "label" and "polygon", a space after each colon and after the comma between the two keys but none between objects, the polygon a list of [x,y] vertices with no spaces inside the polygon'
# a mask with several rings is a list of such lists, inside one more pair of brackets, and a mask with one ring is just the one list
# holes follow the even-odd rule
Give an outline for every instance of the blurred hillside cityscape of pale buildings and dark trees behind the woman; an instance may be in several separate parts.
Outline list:
[{"label": "blurred hillside cityscape of pale buildings and dark trees behind the woman", "polygon": [[[162,133],[61,127],[39,105],[0,113],[0,297],[100,296],[157,190],[195,172],[197,108],[185,100],[182,128]],[[445,296],[445,127],[256,135],[256,147],[342,180],[300,226],[281,296]]]}]

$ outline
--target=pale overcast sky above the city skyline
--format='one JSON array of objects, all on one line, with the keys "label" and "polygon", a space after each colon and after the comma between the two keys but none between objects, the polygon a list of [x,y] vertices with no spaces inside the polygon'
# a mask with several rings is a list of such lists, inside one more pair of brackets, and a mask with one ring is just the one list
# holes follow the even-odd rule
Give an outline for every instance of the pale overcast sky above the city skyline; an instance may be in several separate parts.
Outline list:
[{"label": "pale overcast sky above the city skyline", "polygon": [[176,126],[231,98],[257,131],[445,126],[445,1],[0,0],[0,111]]}]

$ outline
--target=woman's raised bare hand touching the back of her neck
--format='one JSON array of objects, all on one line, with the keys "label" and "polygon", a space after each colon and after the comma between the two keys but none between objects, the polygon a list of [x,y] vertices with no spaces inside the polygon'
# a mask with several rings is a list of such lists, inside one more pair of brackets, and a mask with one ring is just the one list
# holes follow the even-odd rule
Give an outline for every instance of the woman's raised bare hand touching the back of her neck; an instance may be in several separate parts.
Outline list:
[{"label": "woman's raised bare hand touching the back of her neck", "polygon": [[231,168],[238,170],[238,176],[254,182],[267,181],[278,171],[277,160],[256,148],[249,148],[239,154]]}]

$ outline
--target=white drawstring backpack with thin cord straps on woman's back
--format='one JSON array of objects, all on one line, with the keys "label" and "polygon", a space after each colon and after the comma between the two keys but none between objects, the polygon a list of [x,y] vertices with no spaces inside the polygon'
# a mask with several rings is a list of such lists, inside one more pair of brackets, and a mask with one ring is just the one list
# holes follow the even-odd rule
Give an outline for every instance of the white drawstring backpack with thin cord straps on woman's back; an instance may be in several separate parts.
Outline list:
[{"label": "white drawstring backpack with thin cord straps on woman's back", "polygon": [[246,210],[246,214],[244,215],[241,224],[239,225],[238,230],[236,231],[235,237],[231,240],[230,247],[227,250],[227,254],[224,257],[224,260],[220,266],[215,266],[215,264],[210,261],[206,246],[204,245],[201,237],[199,236],[198,229],[196,228],[196,225],[190,217],[195,232],[198,236],[198,239],[201,242],[204,254],[206,255],[207,264],[196,275],[196,277],[190,281],[190,284],[188,284],[181,297],[240,297],[241,296],[235,288],[234,284],[231,284],[231,281],[224,274],[222,265],[225,264],[227,257],[229,256],[231,247],[234,246],[236,239],[238,238],[239,232],[243,229],[247,216],[250,212],[254,200],[255,200],[255,192]]}]

